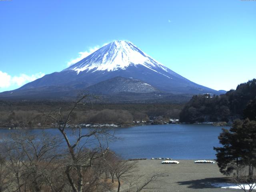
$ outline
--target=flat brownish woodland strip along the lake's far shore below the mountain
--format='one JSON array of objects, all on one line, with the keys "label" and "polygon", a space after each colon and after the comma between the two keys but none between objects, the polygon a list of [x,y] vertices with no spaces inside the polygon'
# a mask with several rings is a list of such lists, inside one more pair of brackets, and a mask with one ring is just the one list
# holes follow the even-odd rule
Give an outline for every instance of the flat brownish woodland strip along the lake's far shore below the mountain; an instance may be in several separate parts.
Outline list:
[{"label": "flat brownish woodland strip along the lake's far shore below the mountain", "polygon": [[[60,110],[66,114],[72,102],[52,101],[0,101],[0,127],[51,126],[54,123],[42,114],[56,114]],[[179,118],[184,104],[100,104],[90,103],[80,106],[72,114],[72,123],[104,124],[114,123],[129,125],[133,121],[167,121]],[[60,108],[61,107],[61,108]]]}]

